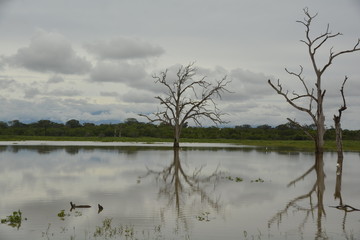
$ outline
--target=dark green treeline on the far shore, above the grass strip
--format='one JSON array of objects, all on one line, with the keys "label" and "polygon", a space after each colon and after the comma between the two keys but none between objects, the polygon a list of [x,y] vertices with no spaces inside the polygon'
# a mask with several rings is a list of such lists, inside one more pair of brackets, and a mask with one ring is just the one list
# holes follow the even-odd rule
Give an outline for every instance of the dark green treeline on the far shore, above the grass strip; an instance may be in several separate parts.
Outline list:
[{"label": "dark green treeline on the far shore, above the grass strip", "polygon": [[[313,126],[305,126],[313,131]],[[18,120],[0,122],[0,135],[22,136],[71,136],[71,137],[155,137],[173,138],[173,129],[167,125],[138,122],[134,118],[118,124],[80,123],[72,119],[65,124],[49,120],[25,124]],[[248,140],[308,140],[303,130],[291,124],[276,127],[244,124],[235,127],[190,127],[182,132],[183,138],[193,139],[248,139]],[[335,130],[328,129],[326,140],[335,139]],[[360,130],[344,130],[344,140],[360,140]]]}]

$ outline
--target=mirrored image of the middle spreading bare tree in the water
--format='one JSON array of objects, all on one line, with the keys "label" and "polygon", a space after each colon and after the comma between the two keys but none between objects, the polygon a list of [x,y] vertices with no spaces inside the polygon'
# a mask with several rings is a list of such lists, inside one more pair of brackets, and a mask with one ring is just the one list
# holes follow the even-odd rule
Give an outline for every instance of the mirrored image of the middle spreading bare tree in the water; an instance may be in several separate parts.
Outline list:
[{"label": "mirrored image of the middle spreading bare tree in the water", "polygon": [[[187,173],[180,161],[180,150],[174,149],[173,151],[173,161],[169,166],[164,167],[162,170],[147,168],[147,173],[139,177],[139,181],[150,176],[155,178],[159,184],[158,197],[167,200],[167,204],[161,209],[161,216],[164,217],[165,211],[168,209],[174,209],[177,215],[176,231],[179,230],[181,222],[185,231],[188,232],[189,216],[187,214],[193,213],[195,210],[198,211],[199,208],[210,208],[215,213],[220,212],[219,198],[211,196],[211,194],[215,191],[222,173],[217,168],[212,174],[204,176],[202,170],[205,165],[194,169],[191,173]],[[211,192],[208,191],[209,185],[212,186]],[[206,215],[208,220],[209,212],[203,212],[203,214]],[[165,219],[163,219],[163,222],[165,222]]]}]

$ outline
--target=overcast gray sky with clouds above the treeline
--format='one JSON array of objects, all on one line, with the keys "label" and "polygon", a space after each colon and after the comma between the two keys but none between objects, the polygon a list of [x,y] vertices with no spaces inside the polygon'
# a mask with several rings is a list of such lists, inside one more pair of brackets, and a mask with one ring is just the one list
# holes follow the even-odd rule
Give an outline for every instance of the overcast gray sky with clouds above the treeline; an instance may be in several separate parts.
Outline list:
[{"label": "overcast gray sky with clouds above the treeline", "polygon": [[[154,74],[195,62],[197,77],[231,82],[215,99],[226,126],[269,124],[309,116],[292,108],[267,83],[302,93],[285,68],[315,75],[303,9],[318,13],[311,36],[341,36],[319,50],[351,49],[360,37],[360,0],[0,0],[0,121],[122,122],[160,109],[165,89]],[[342,104],[342,126],[360,129],[360,51],[339,56],[323,76],[326,126]],[[308,106],[305,103],[305,106]],[[204,120],[204,125],[213,125]]]}]

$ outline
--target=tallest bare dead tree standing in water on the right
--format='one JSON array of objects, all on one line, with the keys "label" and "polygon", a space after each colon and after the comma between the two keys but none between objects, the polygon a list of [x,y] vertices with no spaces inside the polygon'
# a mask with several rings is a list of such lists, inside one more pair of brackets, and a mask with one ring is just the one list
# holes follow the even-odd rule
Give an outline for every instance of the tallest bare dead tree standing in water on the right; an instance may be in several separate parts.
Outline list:
[{"label": "tallest bare dead tree standing in water on the right", "polygon": [[[309,131],[307,131],[305,128],[305,133],[311,137],[311,139],[315,142],[315,149],[316,152],[322,153],[324,151],[324,134],[325,134],[325,114],[323,109],[323,103],[324,103],[324,97],[326,90],[322,88],[322,77],[325,71],[330,67],[330,65],[333,63],[334,59],[337,58],[340,55],[352,53],[355,51],[360,50],[360,38],[357,40],[356,44],[353,48],[334,52],[333,48],[330,49],[328,59],[325,62],[323,66],[318,65],[317,61],[317,53],[318,50],[324,46],[324,43],[326,43],[328,40],[338,37],[342,35],[341,33],[331,33],[329,29],[329,24],[326,27],[325,33],[322,33],[316,37],[311,37],[310,34],[310,28],[312,21],[317,16],[311,15],[308,11],[308,8],[303,9],[305,18],[302,21],[297,21],[298,23],[301,23],[305,26],[305,39],[301,40],[301,42],[305,43],[307,46],[308,54],[311,60],[311,65],[314,70],[315,74],[315,86],[310,87],[307,82],[305,82],[305,78],[303,76],[303,67],[300,65],[300,71],[299,72],[292,72],[287,69],[286,72],[290,75],[295,76],[302,84],[303,86],[303,92],[296,92],[293,91],[291,95],[289,95],[288,91],[285,91],[280,84],[280,81],[278,80],[277,84],[273,84],[271,80],[268,80],[268,83],[270,86],[280,95],[282,95],[285,100],[294,108],[298,109],[299,111],[307,113],[310,118],[312,119],[313,123],[316,126],[316,133],[312,134]],[[295,120],[289,119],[288,120],[297,126],[300,126],[300,123],[298,123]]]}]

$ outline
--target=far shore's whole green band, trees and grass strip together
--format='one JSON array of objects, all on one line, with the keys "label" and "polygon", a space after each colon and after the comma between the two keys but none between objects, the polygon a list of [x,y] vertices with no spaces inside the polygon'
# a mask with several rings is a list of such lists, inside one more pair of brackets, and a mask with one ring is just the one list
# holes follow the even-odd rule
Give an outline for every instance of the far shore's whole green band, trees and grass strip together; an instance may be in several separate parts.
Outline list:
[{"label": "far shore's whole green band, trees and grass strip together", "polygon": [[[313,126],[307,126],[313,131]],[[0,122],[0,141],[101,141],[101,142],[173,142],[172,128],[167,125],[154,125],[127,119],[124,123],[80,124],[70,120],[65,124],[40,120],[25,124],[17,120]],[[287,148],[313,151],[314,143],[308,140],[302,130],[291,124],[277,127],[261,125],[251,127],[241,125],[227,128],[185,127],[181,142],[233,143],[262,146],[267,148]],[[360,130],[344,130],[344,150],[360,151]],[[335,151],[335,130],[328,129],[325,134],[325,150]]]}]

